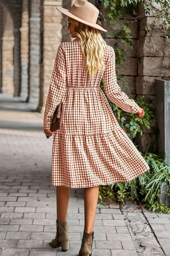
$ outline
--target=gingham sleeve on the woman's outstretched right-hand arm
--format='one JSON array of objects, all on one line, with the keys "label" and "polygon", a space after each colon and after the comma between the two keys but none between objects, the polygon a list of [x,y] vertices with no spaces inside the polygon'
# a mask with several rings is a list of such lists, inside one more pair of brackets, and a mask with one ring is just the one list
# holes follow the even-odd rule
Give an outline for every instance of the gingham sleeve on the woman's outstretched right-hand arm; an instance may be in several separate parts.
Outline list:
[{"label": "gingham sleeve on the woman's outstretched right-hand arm", "polygon": [[114,104],[121,107],[125,112],[138,113],[139,106],[130,99],[117,84],[116,71],[115,71],[115,53],[114,49],[110,47],[110,58],[105,66],[103,73],[104,89],[107,97]]}]

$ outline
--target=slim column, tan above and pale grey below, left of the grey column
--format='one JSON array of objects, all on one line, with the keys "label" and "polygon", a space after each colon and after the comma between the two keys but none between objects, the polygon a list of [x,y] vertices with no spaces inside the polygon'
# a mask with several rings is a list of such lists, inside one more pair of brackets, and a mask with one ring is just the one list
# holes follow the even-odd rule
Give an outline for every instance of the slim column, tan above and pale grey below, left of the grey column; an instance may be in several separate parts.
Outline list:
[{"label": "slim column, tan above and pale grey below, left of the grey column", "polygon": [[25,99],[28,96],[28,51],[29,51],[29,12],[28,0],[22,1],[22,26],[21,32],[21,94]]}]

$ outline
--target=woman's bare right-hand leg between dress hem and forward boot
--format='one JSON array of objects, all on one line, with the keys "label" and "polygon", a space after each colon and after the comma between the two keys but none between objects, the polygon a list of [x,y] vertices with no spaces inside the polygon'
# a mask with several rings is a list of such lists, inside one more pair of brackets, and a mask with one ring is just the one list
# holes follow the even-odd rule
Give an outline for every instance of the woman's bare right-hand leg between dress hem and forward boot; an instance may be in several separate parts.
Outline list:
[{"label": "woman's bare right-hand leg between dress hem and forward boot", "polygon": [[91,233],[94,228],[96,208],[98,201],[99,186],[84,188],[84,208],[85,208],[85,231]]}]

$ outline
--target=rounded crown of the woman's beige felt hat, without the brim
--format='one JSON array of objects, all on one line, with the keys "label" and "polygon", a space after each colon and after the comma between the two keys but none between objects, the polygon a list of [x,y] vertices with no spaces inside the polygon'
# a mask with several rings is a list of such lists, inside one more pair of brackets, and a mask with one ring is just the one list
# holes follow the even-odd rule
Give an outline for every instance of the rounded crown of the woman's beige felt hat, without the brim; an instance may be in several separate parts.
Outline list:
[{"label": "rounded crown of the woman's beige felt hat, without the brim", "polygon": [[96,24],[99,14],[99,10],[94,5],[84,0],[76,0],[69,12],[84,21],[94,24]]}]

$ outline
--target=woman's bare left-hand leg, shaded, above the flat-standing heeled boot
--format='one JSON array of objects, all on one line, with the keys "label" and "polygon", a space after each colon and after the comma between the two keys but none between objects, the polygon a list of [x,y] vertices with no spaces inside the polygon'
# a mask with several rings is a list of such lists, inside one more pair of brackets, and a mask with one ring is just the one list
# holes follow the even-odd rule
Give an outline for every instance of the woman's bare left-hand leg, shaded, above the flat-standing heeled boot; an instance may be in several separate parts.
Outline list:
[{"label": "woman's bare left-hand leg, shaded, above the flat-standing heeled boot", "polygon": [[56,186],[57,219],[60,222],[67,221],[67,209],[69,204],[70,188]]}]

